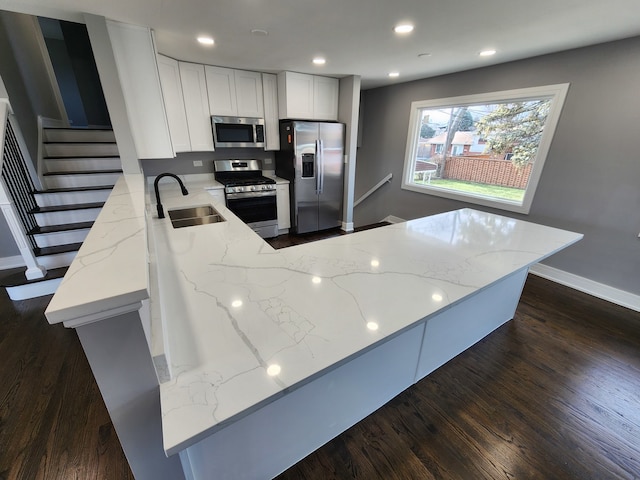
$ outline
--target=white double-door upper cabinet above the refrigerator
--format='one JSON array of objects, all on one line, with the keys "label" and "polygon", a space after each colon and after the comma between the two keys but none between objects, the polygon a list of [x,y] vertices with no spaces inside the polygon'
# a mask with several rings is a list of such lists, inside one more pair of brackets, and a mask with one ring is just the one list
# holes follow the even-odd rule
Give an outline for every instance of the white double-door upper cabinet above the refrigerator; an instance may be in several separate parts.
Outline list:
[{"label": "white double-door upper cabinet above the refrigerator", "polygon": [[278,74],[279,117],[337,120],[338,92],[336,78],[281,72]]}]

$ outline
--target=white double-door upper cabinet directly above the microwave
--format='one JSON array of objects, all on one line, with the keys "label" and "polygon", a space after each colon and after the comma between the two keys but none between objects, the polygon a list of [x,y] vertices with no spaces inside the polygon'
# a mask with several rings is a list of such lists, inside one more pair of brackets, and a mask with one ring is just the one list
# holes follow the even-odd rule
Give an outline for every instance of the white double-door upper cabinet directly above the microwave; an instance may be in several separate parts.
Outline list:
[{"label": "white double-door upper cabinet directly above the microwave", "polygon": [[259,72],[205,66],[209,113],[231,117],[264,117]]}]

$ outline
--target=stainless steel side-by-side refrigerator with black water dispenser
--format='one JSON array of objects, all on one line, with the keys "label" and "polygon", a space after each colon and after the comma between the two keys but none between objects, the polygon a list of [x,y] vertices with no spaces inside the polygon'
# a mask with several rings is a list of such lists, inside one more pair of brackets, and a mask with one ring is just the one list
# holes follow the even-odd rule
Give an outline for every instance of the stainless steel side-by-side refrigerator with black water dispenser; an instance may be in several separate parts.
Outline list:
[{"label": "stainless steel side-by-side refrigerator with black water dispenser", "polygon": [[342,123],[280,122],[276,175],[291,182],[291,225],[296,233],[340,226],[344,131]]}]

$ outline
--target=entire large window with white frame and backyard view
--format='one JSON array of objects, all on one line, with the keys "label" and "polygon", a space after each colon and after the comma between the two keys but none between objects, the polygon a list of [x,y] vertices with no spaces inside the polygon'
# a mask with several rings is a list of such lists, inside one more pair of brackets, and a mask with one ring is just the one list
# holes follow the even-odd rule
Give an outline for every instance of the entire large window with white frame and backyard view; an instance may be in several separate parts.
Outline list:
[{"label": "entire large window with white frame and backyard view", "polygon": [[528,213],[568,88],[413,102],[402,188]]}]

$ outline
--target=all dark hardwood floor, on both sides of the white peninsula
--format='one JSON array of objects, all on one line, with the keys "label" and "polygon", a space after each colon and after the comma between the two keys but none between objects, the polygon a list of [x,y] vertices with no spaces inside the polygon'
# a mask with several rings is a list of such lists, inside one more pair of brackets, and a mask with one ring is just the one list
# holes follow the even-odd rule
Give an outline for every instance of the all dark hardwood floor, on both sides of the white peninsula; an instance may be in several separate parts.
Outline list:
[{"label": "all dark hardwood floor, on both sides of the white peninsula", "polygon": [[[49,298],[0,292],[0,480],[133,478]],[[513,321],[278,478],[638,479],[640,313],[530,275]]]}]

